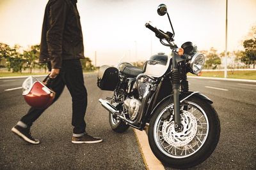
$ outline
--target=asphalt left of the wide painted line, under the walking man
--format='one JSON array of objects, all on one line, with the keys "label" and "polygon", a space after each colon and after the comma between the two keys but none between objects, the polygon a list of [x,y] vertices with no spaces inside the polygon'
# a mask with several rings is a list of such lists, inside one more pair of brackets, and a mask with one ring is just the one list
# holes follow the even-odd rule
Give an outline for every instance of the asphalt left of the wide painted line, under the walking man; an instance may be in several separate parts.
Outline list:
[{"label": "asphalt left of the wide painted line, under the walking man", "polygon": [[86,131],[104,140],[92,145],[71,143],[72,103],[67,89],[31,128],[31,134],[42,143],[21,141],[10,129],[29,107],[21,90],[4,90],[19,87],[24,78],[0,80],[0,169],[145,169],[132,129],[117,134],[109,127],[108,113],[98,99],[111,93],[98,89],[95,75],[84,77],[88,90]]}]

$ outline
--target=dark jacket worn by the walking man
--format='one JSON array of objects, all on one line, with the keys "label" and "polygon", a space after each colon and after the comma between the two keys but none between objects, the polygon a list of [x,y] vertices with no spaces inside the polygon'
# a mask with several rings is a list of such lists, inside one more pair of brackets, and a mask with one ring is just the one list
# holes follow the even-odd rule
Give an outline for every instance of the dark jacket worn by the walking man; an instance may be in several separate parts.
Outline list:
[{"label": "dark jacket worn by the walking man", "polygon": [[44,14],[39,62],[84,59],[83,34],[76,0],[49,0]]}]

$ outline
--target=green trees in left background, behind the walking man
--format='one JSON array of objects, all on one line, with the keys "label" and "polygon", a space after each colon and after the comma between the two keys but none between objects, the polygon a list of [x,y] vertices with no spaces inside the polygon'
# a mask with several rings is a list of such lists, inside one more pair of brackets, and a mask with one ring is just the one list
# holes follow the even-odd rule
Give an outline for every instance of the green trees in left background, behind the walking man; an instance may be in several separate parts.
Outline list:
[{"label": "green trees in left background, behind the walking man", "polygon": [[[22,50],[22,46],[6,45],[0,43],[0,67],[6,67],[8,71],[20,72],[28,69],[29,73],[32,73],[33,69],[44,69],[47,72],[47,64],[38,63],[40,53],[40,45],[31,45],[28,50]],[[92,60],[89,57],[85,57],[81,60],[84,71],[94,71],[95,66],[92,64]]]}]

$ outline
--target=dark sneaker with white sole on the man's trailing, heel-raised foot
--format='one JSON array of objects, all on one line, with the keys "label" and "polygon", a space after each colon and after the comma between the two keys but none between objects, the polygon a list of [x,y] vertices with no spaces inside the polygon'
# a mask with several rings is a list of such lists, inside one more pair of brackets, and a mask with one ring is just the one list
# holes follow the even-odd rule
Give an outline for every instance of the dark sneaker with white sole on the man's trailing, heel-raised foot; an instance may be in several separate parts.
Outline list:
[{"label": "dark sneaker with white sole on the man's trailing, heel-raised foot", "polygon": [[31,136],[30,127],[24,128],[24,127],[20,127],[19,125],[15,125],[15,127],[12,128],[12,132],[28,143],[32,143],[32,144],[40,143],[39,140],[34,139]]}]

